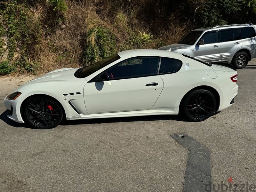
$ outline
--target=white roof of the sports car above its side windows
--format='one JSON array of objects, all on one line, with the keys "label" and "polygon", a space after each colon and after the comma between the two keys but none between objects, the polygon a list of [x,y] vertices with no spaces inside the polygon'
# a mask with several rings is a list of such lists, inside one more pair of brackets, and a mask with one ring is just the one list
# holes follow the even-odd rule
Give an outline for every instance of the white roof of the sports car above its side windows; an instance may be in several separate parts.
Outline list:
[{"label": "white roof of the sports car above its side windows", "polygon": [[171,57],[177,58],[180,57],[180,53],[176,52],[169,52],[166,50],[159,50],[159,49],[133,49],[118,52],[118,55],[121,58],[131,58],[131,57],[139,57],[139,56],[156,56],[156,57]]}]

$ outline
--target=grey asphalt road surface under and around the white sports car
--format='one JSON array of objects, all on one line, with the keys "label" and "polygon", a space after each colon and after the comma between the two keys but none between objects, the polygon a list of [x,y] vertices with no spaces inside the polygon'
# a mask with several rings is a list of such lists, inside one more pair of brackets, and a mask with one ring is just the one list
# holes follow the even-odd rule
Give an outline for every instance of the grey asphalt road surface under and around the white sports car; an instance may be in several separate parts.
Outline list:
[{"label": "grey asphalt road surface under and around the white sports car", "polygon": [[[0,191],[182,191],[188,150],[170,137],[179,132],[210,149],[216,187],[230,176],[256,184],[255,75],[256,60],[238,70],[235,104],[199,123],[145,116],[36,130],[7,119],[0,102]],[[29,79],[0,78],[0,100]]]}]

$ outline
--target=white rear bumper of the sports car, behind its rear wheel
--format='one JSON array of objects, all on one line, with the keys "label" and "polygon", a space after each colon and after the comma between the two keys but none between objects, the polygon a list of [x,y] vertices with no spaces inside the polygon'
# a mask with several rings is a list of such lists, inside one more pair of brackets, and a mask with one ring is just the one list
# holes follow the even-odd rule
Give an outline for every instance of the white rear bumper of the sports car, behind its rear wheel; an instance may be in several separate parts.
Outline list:
[{"label": "white rear bumper of the sports car, behind its rear wheel", "polygon": [[227,85],[217,90],[220,94],[220,107],[218,111],[228,108],[234,104],[234,99],[238,91],[238,85],[234,84]]}]

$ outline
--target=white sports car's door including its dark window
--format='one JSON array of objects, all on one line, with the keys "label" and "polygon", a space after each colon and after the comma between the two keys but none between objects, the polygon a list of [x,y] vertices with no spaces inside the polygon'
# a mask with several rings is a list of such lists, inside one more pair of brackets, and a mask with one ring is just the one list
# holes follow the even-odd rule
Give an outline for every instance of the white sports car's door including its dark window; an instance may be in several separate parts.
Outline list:
[{"label": "white sports car's door including its dark window", "polygon": [[[164,83],[158,57],[136,57],[107,69],[109,81],[96,76],[84,86],[88,114],[146,110],[153,107]],[[101,73],[102,74],[102,73]]]}]

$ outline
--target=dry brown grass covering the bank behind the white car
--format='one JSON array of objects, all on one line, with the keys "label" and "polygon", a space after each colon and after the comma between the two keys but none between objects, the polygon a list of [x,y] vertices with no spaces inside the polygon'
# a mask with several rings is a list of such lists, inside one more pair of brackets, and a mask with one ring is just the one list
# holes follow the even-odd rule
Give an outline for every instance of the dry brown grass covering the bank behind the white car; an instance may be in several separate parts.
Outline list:
[{"label": "dry brown grass covering the bank behind the white car", "polygon": [[[42,37],[40,51],[36,59],[40,62],[39,74],[57,68],[80,67],[83,50],[86,50],[86,42],[90,29],[104,26],[116,36],[116,51],[132,48],[158,48],[159,46],[176,43],[186,33],[187,25],[177,23],[170,19],[169,27],[150,26],[138,19],[138,13],[127,11],[129,7],[125,1],[120,1],[120,7],[110,0],[81,0],[67,1],[68,10],[65,12],[65,20],[60,22],[51,33],[45,33]],[[137,6],[137,12],[147,0],[140,0],[133,6]],[[38,15],[37,15],[38,17]],[[47,27],[47,26],[46,26]],[[150,42],[140,42],[140,32],[153,34]],[[91,36],[92,38],[92,36]],[[127,44],[132,40],[137,44]]]}]

